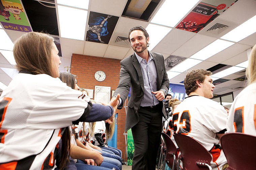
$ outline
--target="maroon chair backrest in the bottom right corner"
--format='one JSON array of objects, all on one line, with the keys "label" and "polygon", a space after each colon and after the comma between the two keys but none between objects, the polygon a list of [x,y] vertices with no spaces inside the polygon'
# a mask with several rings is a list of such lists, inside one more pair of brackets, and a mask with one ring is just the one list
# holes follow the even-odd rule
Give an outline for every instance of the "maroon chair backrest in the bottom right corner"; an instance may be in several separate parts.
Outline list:
[{"label": "maroon chair backrest in the bottom right corner", "polygon": [[256,169],[256,136],[227,133],[221,137],[221,146],[230,169]]}]

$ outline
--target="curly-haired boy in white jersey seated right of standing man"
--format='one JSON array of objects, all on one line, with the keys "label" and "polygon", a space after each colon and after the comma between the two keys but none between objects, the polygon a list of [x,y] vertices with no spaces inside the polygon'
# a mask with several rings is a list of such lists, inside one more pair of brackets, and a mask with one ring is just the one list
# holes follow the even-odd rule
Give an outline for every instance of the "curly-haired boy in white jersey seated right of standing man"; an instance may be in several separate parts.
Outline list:
[{"label": "curly-haired boy in white jersey seated right of standing man", "polygon": [[[219,145],[226,131],[227,112],[213,97],[212,72],[203,69],[187,73],[184,86],[186,97],[172,115],[173,131],[199,141],[213,157],[211,167],[221,170],[227,163]],[[219,139],[218,139],[219,138]]]}]

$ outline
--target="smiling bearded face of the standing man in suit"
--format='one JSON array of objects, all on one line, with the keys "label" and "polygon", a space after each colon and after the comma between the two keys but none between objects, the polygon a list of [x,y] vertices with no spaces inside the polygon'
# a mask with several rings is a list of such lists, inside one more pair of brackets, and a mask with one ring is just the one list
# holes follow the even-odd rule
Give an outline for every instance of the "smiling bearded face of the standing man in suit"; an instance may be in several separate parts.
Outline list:
[{"label": "smiling bearded face of the standing man in suit", "polygon": [[146,50],[147,44],[149,42],[149,37],[145,37],[142,31],[134,30],[130,34],[131,46],[133,51],[136,53],[141,53]]}]

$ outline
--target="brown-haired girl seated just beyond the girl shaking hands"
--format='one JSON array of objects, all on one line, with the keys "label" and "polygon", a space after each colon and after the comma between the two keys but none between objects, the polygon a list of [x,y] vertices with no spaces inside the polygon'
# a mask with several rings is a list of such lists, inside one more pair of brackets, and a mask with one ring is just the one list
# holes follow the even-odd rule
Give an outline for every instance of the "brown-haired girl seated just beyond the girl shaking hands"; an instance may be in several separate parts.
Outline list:
[{"label": "brown-haired girl seated just beyond the girl shaking hands", "polygon": [[[60,73],[60,80],[63,83],[66,83],[67,86],[71,87],[72,89],[75,89],[75,90],[80,89],[79,86],[77,85],[76,75],[66,73],[66,72],[65,73]],[[114,115],[115,114],[112,115],[113,116],[113,118],[111,118],[112,120],[114,119]],[[105,121],[109,122],[108,120],[105,120]],[[91,165],[94,165],[94,162],[97,162],[97,160],[95,160],[95,159],[92,160],[92,158],[88,154],[88,151],[93,151],[93,150],[89,149],[88,147],[85,147],[85,145],[83,145],[83,143],[81,143],[79,140],[77,140],[77,138],[75,137],[75,128],[76,127],[74,125],[71,125],[69,127],[70,134],[72,134],[71,135],[71,144],[74,145],[73,147],[79,146],[79,147],[83,148],[83,150],[81,150],[81,153],[74,153],[74,152],[72,152],[73,147],[71,147],[70,155],[71,155],[72,158],[77,158],[77,159],[75,159],[75,162],[79,163],[79,167],[82,166],[81,169],[95,168],[95,167],[91,167]],[[99,152],[96,152],[96,153],[100,155]],[[83,155],[87,155],[87,157],[89,159],[84,159]],[[81,161],[79,161],[79,160],[81,160]],[[85,164],[85,162],[87,163],[87,165]],[[75,166],[78,169],[77,163],[75,163]],[[84,167],[81,164],[84,164]],[[118,160],[115,160],[115,159],[112,159],[112,158],[107,158],[107,157],[103,157],[103,162],[100,166],[110,168],[110,169],[115,168],[115,169],[118,169],[118,170],[120,170],[120,167],[122,168],[122,165],[121,165],[121,163],[119,163]],[[97,167],[97,169],[100,169],[100,168]]]}]

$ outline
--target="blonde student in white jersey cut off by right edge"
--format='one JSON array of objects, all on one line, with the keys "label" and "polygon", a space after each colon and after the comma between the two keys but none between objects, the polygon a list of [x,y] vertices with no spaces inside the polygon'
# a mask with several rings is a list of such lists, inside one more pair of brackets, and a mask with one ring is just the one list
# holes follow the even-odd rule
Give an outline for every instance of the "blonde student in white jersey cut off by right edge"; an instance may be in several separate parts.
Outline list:
[{"label": "blonde student in white jersey cut off by right edge", "polygon": [[234,99],[227,120],[227,132],[256,136],[256,45],[252,48],[246,69],[248,86]]}]

